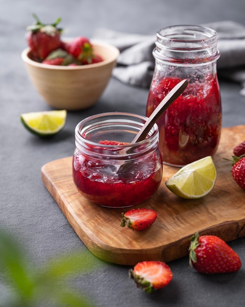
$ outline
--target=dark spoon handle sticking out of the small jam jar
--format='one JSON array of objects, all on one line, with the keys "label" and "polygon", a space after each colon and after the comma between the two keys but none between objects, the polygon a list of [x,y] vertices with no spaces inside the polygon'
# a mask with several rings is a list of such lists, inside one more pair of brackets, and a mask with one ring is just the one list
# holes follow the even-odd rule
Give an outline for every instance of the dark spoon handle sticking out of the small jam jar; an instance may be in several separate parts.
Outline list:
[{"label": "dark spoon handle sticking out of the small jam jar", "polygon": [[146,138],[148,132],[156,123],[158,118],[169,107],[169,105],[172,104],[172,102],[174,102],[184,92],[188,83],[188,80],[184,79],[175,85],[175,87],[163,98],[162,102],[160,102],[156,109],[152,112],[151,116],[147,119],[143,127],[136,134],[131,144],[142,141]]}]

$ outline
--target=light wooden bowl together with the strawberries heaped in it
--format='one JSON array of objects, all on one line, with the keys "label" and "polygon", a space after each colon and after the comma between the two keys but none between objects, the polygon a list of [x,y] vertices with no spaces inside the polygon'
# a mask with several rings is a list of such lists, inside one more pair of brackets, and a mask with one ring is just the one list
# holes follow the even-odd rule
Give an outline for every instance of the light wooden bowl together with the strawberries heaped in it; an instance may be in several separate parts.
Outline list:
[{"label": "light wooden bowl together with the strawberries heaped in it", "polygon": [[[58,22],[59,19],[44,25],[38,19],[38,25],[27,27],[28,48],[21,54],[27,73],[37,92],[52,107],[68,111],[89,108],[106,89],[119,50],[84,36],[63,39]],[[48,33],[47,28],[53,31]],[[38,37],[41,40],[36,42]],[[83,45],[76,45],[78,41]],[[78,52],[72,54],[75,45]]]}]

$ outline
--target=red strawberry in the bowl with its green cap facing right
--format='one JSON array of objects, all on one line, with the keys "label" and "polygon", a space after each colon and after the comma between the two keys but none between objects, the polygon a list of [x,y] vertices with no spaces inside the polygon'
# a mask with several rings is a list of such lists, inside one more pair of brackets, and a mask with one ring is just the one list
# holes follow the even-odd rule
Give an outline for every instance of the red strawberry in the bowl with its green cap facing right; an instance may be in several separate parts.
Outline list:
[{"label": "red strawberry in the bowl with its green cap facing right", "polygon": [[79,36],[68,43],[63,43],[62,47],[78,59],[82,64],[92,62],[92,46],[88,38]]}]

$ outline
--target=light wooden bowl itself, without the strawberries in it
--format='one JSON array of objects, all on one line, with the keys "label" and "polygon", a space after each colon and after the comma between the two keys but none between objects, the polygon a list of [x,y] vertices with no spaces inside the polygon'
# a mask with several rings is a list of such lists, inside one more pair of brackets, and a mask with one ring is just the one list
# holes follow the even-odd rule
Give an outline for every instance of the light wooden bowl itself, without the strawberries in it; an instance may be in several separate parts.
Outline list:
[{"label": "light wooden bowl itself, without the strawberries in it", "polygon": [[94,53],[104,61],[81,66],[55,66],[30,59],[30,49],[22,51],[28,75],[43,99],[56,109],[81,110],[91,107],[105,90],[119,50],[91,40]]}]

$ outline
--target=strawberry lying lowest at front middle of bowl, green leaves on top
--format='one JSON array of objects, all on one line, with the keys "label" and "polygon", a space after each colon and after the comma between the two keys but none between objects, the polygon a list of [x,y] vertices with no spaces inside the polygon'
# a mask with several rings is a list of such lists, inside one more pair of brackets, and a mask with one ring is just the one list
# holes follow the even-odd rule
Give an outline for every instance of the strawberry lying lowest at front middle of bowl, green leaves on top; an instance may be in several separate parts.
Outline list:
[{"label": "strawberry lying lowest at front middle of bowl, green leaves on top", "polygon": [[52,51],[45,60],[42,61],[43,64],[49,64],[49,65],[62,65],[67,66],[70,64],[78,65],[78,60],[75,59],[71,54],[68,52],[57,49]]}]

